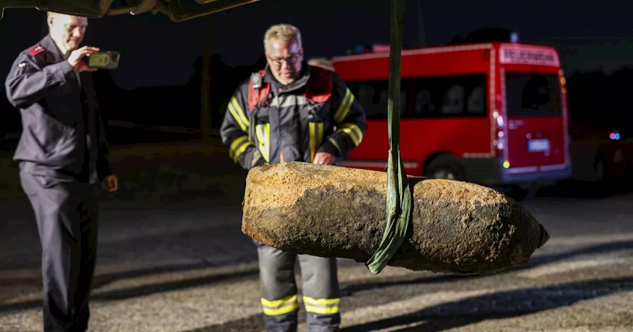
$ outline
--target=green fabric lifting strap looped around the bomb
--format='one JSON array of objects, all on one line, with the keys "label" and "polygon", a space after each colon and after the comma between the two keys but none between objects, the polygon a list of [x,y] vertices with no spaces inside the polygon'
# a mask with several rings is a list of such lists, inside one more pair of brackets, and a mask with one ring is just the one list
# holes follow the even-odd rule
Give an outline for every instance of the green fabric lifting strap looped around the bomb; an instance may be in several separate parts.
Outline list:
[{"label": "green fabric lifting strap looped around the bomb", "polygon": [[382,241],[366,263],[378,274],[404,242],[411,223],[411,188],[400,159],[400,52],[404,29],[406,0],[391,0],[391,46],[389,49],[389,161],[387,163],[387,224]]}]

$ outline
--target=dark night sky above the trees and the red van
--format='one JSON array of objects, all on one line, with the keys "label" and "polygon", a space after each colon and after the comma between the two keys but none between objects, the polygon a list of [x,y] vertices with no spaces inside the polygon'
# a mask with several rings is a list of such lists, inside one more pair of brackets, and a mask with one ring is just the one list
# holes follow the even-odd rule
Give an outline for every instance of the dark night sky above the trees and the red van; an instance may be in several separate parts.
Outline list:
[{"label": "dark night sky above the trees and the red van", "polygon": [[[310,6],[308,6],[310,4]],[[417,42],[417,2],[408,1],[405,43]],[[559,47],[565,69],[613,71],[633,63],[630,1],[474,1],[422,2],[427,44],[448,42],[455,34],[501,25],[516,29],[524,42]],[[260,56],[261,39],[274,23],[297,25],[306,56],[342,54],[354,44],[389,42],[389,1],[262,0],[216,13],[211,18],[211,53],[227,65],[251,65]],[[15,56],[42,37],[43,14],[36,9],[6,9],[0,20],[0,76]],[[564,39],[563,39],[564,38]],[[163,14],[106,16],[91,20],[86,41],[122,52],[113,72],[126,89],[182,85],[192,61],[203,54],[204,18],[174,23]]]}]

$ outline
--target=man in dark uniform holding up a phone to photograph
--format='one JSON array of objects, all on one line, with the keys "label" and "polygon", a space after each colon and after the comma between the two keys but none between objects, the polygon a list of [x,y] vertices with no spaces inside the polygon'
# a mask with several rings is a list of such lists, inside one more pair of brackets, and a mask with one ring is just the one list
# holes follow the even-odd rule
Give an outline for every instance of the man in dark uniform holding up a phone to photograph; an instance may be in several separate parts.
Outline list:
[{"label": "man in dark uniform holding up a phone to photograph", "polygon": [[6,78],[22,113],[13,159],[42,244],[44,331],[85,331],[96,262],[97,178],[114,192],[103,122],[89,68],[99,49],[78,48],[87,18],[48,13],[49,34],[21,52]]}]

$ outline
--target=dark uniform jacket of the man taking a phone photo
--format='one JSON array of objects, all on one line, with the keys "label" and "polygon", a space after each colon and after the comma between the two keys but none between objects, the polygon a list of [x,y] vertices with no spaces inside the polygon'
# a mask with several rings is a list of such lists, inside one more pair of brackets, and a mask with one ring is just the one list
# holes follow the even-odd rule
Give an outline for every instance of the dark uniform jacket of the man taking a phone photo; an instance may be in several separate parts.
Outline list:
[{"label": "dark uniform jacket of the man taking a phone photo", "polygon": [[23,127],[13,159],[34,175],[92,182],[111,175],[103,121],[91,73],[75,73],[62,50],[47,35],[9,70],[7,99]]}]

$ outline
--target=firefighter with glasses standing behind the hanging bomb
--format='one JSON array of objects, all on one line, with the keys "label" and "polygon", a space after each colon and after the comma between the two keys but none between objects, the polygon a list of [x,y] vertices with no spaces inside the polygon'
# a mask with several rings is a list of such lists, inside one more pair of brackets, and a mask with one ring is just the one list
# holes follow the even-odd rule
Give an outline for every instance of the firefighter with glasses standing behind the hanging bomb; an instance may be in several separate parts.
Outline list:
[{"label": "firefighter with glasses standing behind the hanging bomb", "polygon": [[[222,142],[242,168],[299,161],[321,165],[360,144],[365,112],[336,73],[303,60],[292,25],[264,35],[267,64],[239,85],[222,123]],[[261,304],[268,331],[296,331],[296,255],[256,242]],[[309,331],[339,331],[341,294],[334,257],[299,255]]]}]

